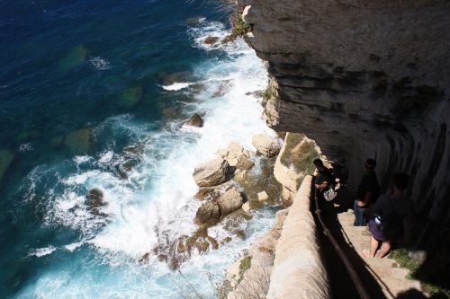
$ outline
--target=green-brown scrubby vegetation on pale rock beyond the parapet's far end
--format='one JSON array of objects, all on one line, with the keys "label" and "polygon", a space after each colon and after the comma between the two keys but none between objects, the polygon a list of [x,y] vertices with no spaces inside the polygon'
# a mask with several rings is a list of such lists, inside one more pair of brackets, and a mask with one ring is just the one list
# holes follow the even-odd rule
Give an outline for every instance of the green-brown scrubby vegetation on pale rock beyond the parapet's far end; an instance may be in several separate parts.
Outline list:
[{"label": "green-brown scrubby vegetation on pale rock beyond the parapet's far end", "polygon": [[305,136],[300,133],[288,133],[286,136],[284,153],[281,156],[281,163],[285,166],[293,165],[295,171],[303,171],[305,174],[314,172],[314,159],[319,158],[319,154],[314,147],[313,141],[303,141]]}]

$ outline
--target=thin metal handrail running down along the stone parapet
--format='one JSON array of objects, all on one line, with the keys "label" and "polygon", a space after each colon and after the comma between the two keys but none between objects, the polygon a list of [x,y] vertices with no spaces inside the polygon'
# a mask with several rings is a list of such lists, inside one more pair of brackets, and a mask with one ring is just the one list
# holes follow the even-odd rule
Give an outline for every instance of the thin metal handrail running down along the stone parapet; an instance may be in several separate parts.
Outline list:
[{"label": "thin metal handrail running down along the stone parapet", "polygon": [[359,296],[362,299],[370,299],[370,295],[367,293],[367,290],[365,289],[365,286],[363,285],[363,282],[361,281],[361,279],[359,279],[355,268],[353,267],[352,263],[350,262],[350,260],[347,258],[346,254],[344,253],[344,251],[342,251],[342,249],[340,248],[338,242],[336,242],[335,238],[333,237],[333,235],[330,233],[329,228],[327,227],[327,225],[324,224],[322,218],[320,217],[320,208],[319,208],[319,199],[317,198],[317,193],[316,193],[316,187],[315,185],[313,185],[314,187],[312,188],[313,192],[314,192],[314,202],[315,202],[315,206],[316,206],[316,210],[315,210],[315,214],[317,215],[320,224],[322,225],[323,228],[323,233],[329,238],[329,242],[331,242],[331,244],[333,245],[335,251],[338,253],[339,258],[342,260],[342,262],[344,263],[344,266],[347,269],[348,275],[350,275],[350,278],[352,279],[353,283],[356,286],[356,291],[358,292]]}]

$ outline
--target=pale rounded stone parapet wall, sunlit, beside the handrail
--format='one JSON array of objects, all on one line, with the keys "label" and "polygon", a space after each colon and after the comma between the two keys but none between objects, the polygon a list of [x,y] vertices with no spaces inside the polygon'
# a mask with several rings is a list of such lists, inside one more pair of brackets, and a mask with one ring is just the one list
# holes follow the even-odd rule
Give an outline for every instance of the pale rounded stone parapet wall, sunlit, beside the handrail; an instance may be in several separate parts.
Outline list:
[{"label": "pale rounded stone parapet wall, sunlit, beside the handrail", "polygon": [[276,245],[268,299],[329,298],[327,270],[310,212],[312,177],[302,182]]}]

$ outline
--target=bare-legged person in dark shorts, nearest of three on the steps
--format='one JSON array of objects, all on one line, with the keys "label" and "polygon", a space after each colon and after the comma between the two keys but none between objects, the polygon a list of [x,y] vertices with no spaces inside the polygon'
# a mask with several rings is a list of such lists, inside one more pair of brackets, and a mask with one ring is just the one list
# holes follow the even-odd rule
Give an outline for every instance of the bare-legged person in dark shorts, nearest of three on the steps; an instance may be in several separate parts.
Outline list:
[{"label": "bare-legged person in dark shorts, nearest of three on the steps", "polygon": [[367,258],[374,258],[379,249],[379,257],[385,257],[392,247],[392,242],[403,237],[403,218],[412,210],[411,202],[405,198],[405,189],[409,184],[409,176],[405,173],[395,173],[393,187],[388,194],[382,195],[374,205],[374,217],[369,221],[372,234],[370,250],[363,250]]}]

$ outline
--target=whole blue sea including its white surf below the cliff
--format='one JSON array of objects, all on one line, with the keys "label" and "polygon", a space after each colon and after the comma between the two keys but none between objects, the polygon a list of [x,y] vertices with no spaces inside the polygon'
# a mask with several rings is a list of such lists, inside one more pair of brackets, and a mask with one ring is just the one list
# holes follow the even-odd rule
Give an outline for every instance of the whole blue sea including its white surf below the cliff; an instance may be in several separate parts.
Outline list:
[{"label": "whole blue sea including its white surf below the cliff", "polygon": [[[203,42],[228,17],[204,1],[0,1],[0,297],[189,298],[184,277],[213,297],[203,272],[219,281],[270,207],[184,276],[137,260],[194,231],[196,164],[273,134],[249,93],[265,88],[262,62],[242,41]],[[205,126],[181,128],[194,112]]]}]

